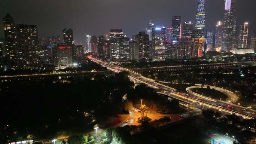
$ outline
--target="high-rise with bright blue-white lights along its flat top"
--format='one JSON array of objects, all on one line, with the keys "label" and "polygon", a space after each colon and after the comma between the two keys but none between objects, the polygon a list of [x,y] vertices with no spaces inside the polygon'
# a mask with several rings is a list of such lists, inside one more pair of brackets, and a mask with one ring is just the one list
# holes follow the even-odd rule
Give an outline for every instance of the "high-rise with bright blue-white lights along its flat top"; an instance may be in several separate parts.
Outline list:
[{"label": "high-rise with bright blue-white lights along its flat top", "polygon": [[155,61],[165,60],[166,28],[155,28]]}]

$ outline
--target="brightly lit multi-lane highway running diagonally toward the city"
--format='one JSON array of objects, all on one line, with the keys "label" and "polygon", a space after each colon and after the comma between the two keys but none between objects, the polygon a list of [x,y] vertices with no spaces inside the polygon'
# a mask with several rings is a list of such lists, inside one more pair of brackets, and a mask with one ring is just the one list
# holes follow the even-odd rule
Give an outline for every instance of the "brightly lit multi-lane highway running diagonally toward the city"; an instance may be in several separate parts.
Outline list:
[{"label": "brightly lit multi-lane highway running diagonally toward the city", "polygon": [[225,102],[221,101],[214,101],[209,98],[199,97],[196,95],[191,95],[186,92],[180,92],[177,91],[174,88],[171,88],[169,86],[162,85],[161,83],[157,83],[152,79],[148,79],[146,77],[141,76],[140,74],[129,70],[127,68],[122,68],[118,66],[111,66],[107,64],[106,62],[103,62],[99,59],[89,57],[94,62],[97,62],[98,64],[103,65],[104,67],[107,67],[109,70],[121,72],[121,71],[129,71],[129,78],[131,80],[136,80],[141,83],[145,83],[146,85],[158,89],[162,94],[168,95],[170,97],[179,99],[183,102],[193,103],[195,106],[201,106],[204,108],[212,108],[213,110],[220,111],[222,113],[228,113],[228,114],[236,114],[238,116],[243,117],[244,119],[254,119],[256,118],[255,111],[250,108],[244,108],[240,105],[232,104],[229,105]]}]

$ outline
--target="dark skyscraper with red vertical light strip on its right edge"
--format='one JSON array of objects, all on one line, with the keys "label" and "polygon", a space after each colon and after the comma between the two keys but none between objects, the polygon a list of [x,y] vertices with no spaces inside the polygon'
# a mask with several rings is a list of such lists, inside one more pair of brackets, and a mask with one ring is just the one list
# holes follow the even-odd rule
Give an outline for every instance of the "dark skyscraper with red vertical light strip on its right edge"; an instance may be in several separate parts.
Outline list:
[{"label": "dark skyscraper with red vertical light strip on its right edge", "polygon": [[177,42],[181,38],[181,24],[180,24],[180,16],[173,16],[171,19],[171,27],[173,27],[171,41]]}]

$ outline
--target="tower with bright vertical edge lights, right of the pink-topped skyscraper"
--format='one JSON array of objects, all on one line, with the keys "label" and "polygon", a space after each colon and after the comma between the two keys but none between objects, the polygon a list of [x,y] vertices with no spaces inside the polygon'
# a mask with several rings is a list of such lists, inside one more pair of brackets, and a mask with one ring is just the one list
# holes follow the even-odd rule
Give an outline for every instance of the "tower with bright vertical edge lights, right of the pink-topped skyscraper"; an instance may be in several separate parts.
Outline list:
[{"label": "tower with bright vertical edge lights, right of the pink-topped skyscraper", "polygon": [[240,25],[240,34],[238,37],[238,48],[247,48],[248,44],[248,22],[243,22]]}]

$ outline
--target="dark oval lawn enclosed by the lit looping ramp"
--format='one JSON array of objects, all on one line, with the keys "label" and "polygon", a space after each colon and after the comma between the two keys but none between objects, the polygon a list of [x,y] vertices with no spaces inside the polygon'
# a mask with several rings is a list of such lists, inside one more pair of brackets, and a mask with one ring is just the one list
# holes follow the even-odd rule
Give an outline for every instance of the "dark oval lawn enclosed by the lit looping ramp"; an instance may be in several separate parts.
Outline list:
[{"label": "dark oval lawn enclosed by the lit looping ramp", "polygon": [[223,94],[222,92],[216,91],[215,89],[204,89],[204,88],[194,88],[192,89],[193,92],[200,94],[200,95],[204,95],[204,96],[211,96],[211,98],[214,99],[222,99],[223,101],[226,100],[226,98],[228,98],[225,94]]}]

